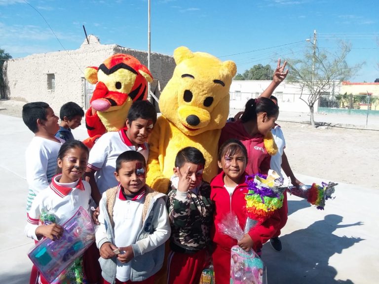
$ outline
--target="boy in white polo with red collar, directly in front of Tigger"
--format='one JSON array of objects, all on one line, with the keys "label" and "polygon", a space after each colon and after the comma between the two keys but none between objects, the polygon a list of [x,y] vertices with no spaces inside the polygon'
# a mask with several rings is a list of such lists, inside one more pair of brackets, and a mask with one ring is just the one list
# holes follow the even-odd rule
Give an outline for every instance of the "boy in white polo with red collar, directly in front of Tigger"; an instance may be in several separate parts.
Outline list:
[{"label": "boy in white polo with red collar, directly in front of Tigger", "polygon": [[95,143],[89,155],[86,180],[91,184],[96,204],[99,204],[103,192],[117,185],[114,166],[122,152],[138,151],[148,160],[147,141],[155,122],[156,110],[150,102],[134,102],[129,109],[126,126],[117,132],[104,134]]}]

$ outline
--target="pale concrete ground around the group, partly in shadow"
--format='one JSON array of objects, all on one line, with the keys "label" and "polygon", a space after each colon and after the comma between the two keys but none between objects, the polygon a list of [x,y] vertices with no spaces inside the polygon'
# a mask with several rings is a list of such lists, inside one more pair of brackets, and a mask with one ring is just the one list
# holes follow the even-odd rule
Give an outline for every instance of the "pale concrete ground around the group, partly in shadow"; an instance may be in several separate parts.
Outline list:
[{"label": "pale concrete ground around the group, partly in shadow", "polygon": [[[0,114],[0,283],[27,284],[34,242],[25,237],[27,183],[24,153],[33,134],[22,119]],[[73,131],[86,138],[83,126]],[[305,183],[327,181],[296,175]],[[334,180],[337,181],[338,180]],[[263,249],[269,284],[374,284],[379,282],[378,191],[340,183],[336,199],[319,211],[289,196],[283,250]]]}]

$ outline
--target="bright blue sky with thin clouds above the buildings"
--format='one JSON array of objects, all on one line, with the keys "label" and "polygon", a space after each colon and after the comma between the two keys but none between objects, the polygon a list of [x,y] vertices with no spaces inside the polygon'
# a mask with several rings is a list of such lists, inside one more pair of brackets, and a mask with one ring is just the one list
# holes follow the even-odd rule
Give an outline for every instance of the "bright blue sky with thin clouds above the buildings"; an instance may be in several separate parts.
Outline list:
[{"label": "bright blue sky with thin clouds above the buildings", "polygon": [[[255,64],[275,66],[311,48],[337,52],[351,43],[350,65],[365,62],[350,81],[379,78],[377,0],[152,0],[151,48],[172,55],[184,45],[222,60],[241,73]],[[0,0],[0,48],[14,58],[77,49],[87,34],[103,44],[147,50],[147,0]],[[54,33],[59,38],[58,42]],[[90,63],[89,63],[90,65]]]}]

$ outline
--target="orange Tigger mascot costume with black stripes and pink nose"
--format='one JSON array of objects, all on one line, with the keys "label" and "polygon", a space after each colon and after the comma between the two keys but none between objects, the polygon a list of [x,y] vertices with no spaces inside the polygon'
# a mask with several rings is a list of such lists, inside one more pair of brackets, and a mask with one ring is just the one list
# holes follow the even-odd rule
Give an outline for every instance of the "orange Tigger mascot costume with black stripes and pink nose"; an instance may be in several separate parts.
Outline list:
[{"label": "orange Tigger mascot costume with black stripes and pink nose", "polygon": [[87,67],[84,76],[96,84],[85,113],[89,138],[84,141],[92,148],[96,140],[108,131],[125,126],[128,110],[133,102],[147,99],[147,82],[152,74],[138,59],[128,54],[114,54],[99,67]]}]

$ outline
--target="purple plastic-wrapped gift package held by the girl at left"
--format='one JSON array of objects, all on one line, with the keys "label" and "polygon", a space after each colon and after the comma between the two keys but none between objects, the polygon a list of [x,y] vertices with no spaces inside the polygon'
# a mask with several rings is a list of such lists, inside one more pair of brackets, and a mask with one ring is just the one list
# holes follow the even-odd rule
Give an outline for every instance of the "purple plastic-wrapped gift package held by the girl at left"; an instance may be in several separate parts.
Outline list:
[{"label": "purple plastic-wrapped gift package held by the girl at left", "polygon": [[[55,223],[51,213],[44,213],[42,223]],[[95,241],[94,227],[88,212],[79,207],[76,213],[62,225],[64,232],[58,240],[43,239],[28,253],[42,276],[49,282],[70,265],[76,265],[83,252]]]}]

